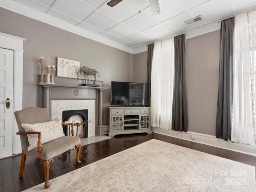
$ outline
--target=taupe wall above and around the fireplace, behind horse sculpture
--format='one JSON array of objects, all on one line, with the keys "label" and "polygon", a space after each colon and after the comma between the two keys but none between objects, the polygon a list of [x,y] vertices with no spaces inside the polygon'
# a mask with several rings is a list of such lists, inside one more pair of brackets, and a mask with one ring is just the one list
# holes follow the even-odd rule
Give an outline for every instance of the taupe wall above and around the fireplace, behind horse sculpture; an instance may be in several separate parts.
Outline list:
[{"label": "taupe wall above and around the fireplace, behind horse sculpture", "polygon": [[[81,62],[99,71],[104,87],[111,81],[133,81],[133,54],[67,32],[49,24],[0,8],[0,32],[26,38],[23,59],[23,108],[36,106],[39,57],[44,65],[56,65],[57,57]],[[44,70],[46,75],[46,70]],[[103,93],[104,111],[110,105],[110,90]],[[104,114],[106,125],[108,113]]]}]

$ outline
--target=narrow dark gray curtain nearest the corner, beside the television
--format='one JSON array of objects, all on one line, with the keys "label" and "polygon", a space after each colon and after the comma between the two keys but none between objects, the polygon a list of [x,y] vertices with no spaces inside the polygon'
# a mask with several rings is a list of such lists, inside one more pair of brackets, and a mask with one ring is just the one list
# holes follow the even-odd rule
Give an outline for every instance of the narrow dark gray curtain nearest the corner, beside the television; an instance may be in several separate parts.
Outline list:
[{"label": "narrow dark gray curtain nearest the corner, beside the television", "polygon": [[148,83],[148,106],[149,107],[150,107],[150,99],[151,99],[151,69],[152,69],[153,49],[154,49],[154,43],[148,45],[147,83]]}]

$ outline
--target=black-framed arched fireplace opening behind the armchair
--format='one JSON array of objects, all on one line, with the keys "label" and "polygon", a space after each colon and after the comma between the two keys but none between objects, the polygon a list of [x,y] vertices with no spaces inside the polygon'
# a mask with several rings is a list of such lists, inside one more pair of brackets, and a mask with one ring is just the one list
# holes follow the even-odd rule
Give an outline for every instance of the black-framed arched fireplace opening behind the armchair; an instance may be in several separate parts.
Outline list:
[{"label": "black-framed arched fireplace opening behind the armchair", "polygon": [[[80,122],[86,122],[88,120],[88,109],[62,111],[62,122],[65,122],[67,120],[79,120]],[[76,136],[77,132],[77,136],[80,135],[81,138],[88,137],[88,123],[86,123],[84,130],[83,126],[83,124],[80,125],[78,129],[76,126],[74,126],[74,136]],[[71,130],[68,130],[68,126],[63,126],[63,132],[65,136],[68,136]]]}]

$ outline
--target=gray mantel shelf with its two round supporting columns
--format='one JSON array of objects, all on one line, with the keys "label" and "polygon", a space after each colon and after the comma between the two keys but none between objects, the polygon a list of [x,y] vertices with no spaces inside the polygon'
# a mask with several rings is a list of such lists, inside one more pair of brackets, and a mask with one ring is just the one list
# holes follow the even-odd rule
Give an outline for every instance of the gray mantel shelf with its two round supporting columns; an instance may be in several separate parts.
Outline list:
[{"label": "gray mantel shelf with its two round supporting columns", "polygon": [[[102,93],[103,90],[107,90],[108,87],[93,87],[93,86],[76,86],[76,85],[64,85],[64,84],[46,84],[46,83],[38,83],[37,86],[41,86],[43,88],[43,96],[42,96],[42,104],[44,108],[47,108],[50,113],[50,101],[52,100],[52,88],[62,88],[66,89],[67,91],[70,91],[70,89],[78,89],[78,90],[98,90],[98,112],[99,112],[99,118],[98,118],[98,130],[104,129],[103,126],[103,98]],[[74,98],[73,98],[74,99]],[[98,131],[97,131],[98,132]]]}]

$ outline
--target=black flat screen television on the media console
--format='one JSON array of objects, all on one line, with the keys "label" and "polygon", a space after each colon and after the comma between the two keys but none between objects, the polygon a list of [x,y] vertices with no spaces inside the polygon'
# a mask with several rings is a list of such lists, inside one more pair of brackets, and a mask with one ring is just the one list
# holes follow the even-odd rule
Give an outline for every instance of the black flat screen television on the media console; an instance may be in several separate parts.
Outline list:
[{"label": "black flat screen television on the media console", "polygon": [[111,82],[111,105],[147,105],[148,84]]}]

